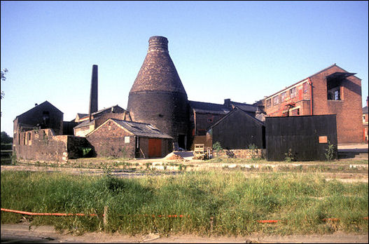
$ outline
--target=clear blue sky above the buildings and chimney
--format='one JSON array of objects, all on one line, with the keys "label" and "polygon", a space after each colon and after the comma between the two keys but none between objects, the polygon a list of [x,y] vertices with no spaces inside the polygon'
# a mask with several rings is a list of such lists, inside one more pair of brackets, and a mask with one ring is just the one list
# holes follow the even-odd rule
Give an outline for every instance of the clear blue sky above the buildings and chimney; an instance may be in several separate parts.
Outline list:
[{"label": "clear blue sky above the buildings and chimney", "polygon": [[127,108],[151,36],[165,36],[188,100],[253,104],[337,64],[368,96],[368,1],[1,1],[1,131],[46,100],[71,121]]}]

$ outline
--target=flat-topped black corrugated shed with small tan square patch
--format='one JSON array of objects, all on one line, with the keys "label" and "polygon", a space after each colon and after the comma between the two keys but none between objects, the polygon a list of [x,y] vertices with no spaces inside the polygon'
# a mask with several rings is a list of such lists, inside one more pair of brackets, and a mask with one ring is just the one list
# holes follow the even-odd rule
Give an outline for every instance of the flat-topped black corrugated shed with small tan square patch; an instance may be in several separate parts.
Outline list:
[{"label": "flat-topped black corrugated shed with small tan square patch", "polygon": [[290,149],[296,161],[323,161],[328,144],[337,146],[335,114],[266,117],[265,127],[267,161],[286,160]]}]

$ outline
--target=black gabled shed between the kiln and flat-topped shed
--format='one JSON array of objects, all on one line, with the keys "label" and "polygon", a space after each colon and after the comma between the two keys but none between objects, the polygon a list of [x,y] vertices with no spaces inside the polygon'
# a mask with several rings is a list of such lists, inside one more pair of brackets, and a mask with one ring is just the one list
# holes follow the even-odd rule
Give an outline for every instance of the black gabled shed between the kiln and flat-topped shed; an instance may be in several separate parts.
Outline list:
[{"label": "black gabled shed between the kiln and flat-topped shed", "polygon": [[265,148],[264,123],[239,107],[211,126],[209,132],[212,142],[220,142],[223,149],[247,149],[250,144]]}]

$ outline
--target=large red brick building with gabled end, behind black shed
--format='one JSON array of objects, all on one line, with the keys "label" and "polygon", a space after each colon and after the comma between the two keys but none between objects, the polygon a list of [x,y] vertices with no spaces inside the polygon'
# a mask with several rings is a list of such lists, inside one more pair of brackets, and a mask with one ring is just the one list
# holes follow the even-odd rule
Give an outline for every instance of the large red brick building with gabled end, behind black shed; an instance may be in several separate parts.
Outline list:
[{"label": "large red brick building with gabled end, behind black shed", "polygon": [[335,114],[337,142],[363,142],[361,79],[331,65],[265,97],[267,116]]}]

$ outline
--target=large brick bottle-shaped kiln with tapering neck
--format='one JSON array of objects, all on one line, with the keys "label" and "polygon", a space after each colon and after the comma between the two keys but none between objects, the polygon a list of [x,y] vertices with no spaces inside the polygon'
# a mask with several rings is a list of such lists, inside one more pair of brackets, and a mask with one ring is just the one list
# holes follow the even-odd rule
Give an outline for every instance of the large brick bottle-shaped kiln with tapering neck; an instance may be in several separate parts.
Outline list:
[{"label": "large brick bottle-shaped kiln with tapering neck", "polygon": [[188,98],[169,56],[168,40],[151,36],[148,52],[130,90],[127,109],[133,121],[151,123],[186,149]]}]

